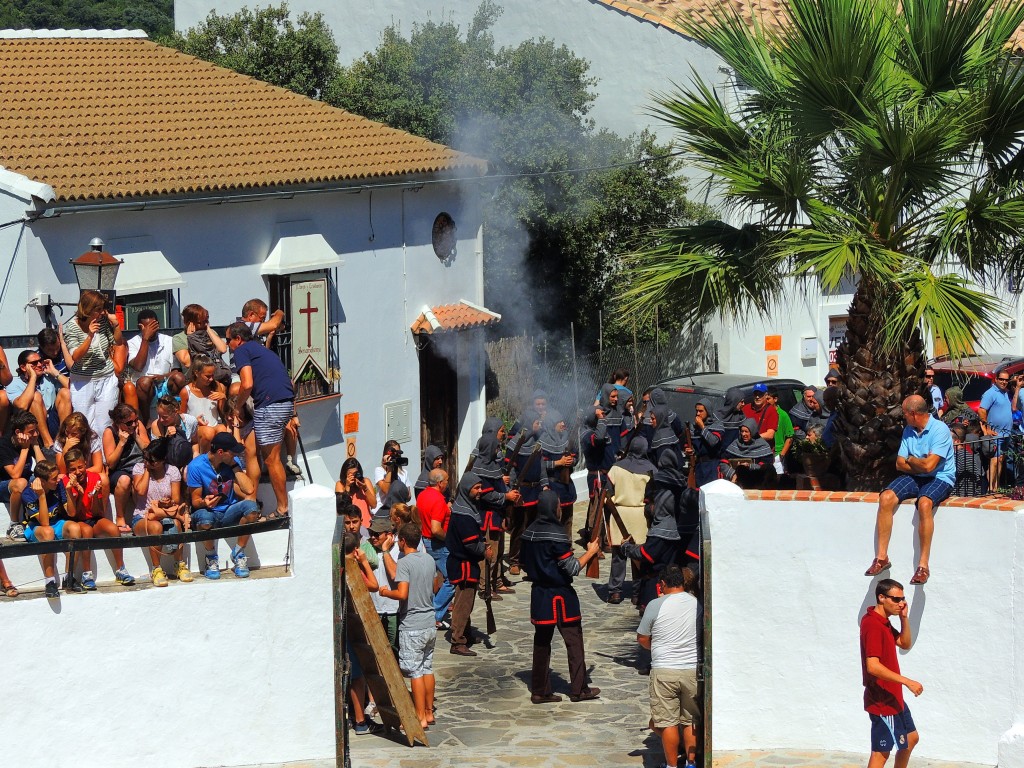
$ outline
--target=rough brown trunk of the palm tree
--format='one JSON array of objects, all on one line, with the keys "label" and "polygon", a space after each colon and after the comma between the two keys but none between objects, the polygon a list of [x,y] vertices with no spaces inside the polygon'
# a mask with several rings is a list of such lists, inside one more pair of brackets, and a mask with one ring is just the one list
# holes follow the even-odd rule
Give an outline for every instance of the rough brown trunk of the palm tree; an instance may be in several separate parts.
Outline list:
[{"label": "rough brown trunk of the palm tree", "polygon": [[861,280],[850,303],[846,339],[836,359],[840,390],[837,434],[849,490],[882,490],[896,476],[903,399],[921,394],[925,345],[907,329],[893,351],[882,344],[885,287]]}]

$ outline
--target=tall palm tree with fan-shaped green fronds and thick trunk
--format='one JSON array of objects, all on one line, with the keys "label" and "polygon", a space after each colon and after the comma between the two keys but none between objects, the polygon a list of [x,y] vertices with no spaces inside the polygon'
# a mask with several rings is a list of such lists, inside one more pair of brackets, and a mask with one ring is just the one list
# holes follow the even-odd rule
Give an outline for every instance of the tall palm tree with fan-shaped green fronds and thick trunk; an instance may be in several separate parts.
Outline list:
[{"label": "tall palm tree with fan-shaped green fronds and thick trunk", "polygon": [[852,281],[840,445],[851,485],[878,489],[924,339],[957,355],[997,335],[1001,303],[977,286],[1024,263],[1024,3],[790,0],[770,26],[725,7],[681,24],[733,97],[694,77],[654,113],[748,223],[651,232],[623,307],[768,316],[794,283]]}]

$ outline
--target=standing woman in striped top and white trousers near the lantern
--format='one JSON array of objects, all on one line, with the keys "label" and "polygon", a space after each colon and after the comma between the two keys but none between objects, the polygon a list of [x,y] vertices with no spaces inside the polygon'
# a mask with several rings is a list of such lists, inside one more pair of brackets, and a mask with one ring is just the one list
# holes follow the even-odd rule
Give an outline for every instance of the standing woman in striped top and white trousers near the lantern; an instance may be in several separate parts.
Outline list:
[{"label": "standing woman in striped top and white trousers near the lantern", "polygon": [[118,404],[118,377],[114,370],[114,347],[124,344],[117,315],[106,311],[106,297],[99,291],[83,291],[74,319],[61,328],[71,378],[71,402],[85,414],[100,433],[111,423],[110,412]]}]

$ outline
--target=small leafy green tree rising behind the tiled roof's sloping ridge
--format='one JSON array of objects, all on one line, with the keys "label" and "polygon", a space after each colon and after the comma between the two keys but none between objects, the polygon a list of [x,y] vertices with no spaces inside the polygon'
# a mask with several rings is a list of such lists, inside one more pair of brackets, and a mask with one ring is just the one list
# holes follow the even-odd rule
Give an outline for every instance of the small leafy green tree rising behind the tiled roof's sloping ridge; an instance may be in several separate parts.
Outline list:
[{"label": "small leafy green tree rising behind the tiled roof's sloping ridge", "polygon": [[210,11],[198,27],[161,42],[310,98],[321,98],[339,72],[323,14],[303,13],[292,24],[287,3],[226,16]]}]

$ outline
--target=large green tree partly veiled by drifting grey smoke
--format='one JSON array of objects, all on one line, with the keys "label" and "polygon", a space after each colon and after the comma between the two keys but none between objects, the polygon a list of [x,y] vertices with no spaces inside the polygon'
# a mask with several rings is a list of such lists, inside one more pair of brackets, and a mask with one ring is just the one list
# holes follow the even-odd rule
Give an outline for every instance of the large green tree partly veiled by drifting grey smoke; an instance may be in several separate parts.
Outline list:
[{"label": "large green tree partly veiled by drifting grey smoke", "polygon": [[[485,158],[501,180],[483,197],[484,283],[503,331],[567,335],[571,321],[593,340],[598,311],[612,309],[615,286],[630,279],[620,255],[645,227],[692,221],[696,209],[669,147],[595,127],[586,60],[545,39],[497,48],[500,12],[485,0],[465,33],[451,22],[416,25],[408,37],[392,27],[325,97]],[[604,166],[614,167],[573,171]],[[612,342],[631,332],[605,328]]]}]

